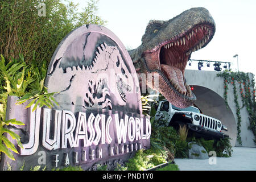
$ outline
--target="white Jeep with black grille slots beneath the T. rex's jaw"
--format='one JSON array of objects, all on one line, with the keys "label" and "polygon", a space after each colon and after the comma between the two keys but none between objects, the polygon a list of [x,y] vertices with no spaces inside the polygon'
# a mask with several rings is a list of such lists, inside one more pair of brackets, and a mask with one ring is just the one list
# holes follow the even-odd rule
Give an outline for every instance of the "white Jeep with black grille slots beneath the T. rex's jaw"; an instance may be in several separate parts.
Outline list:
[{"label": "white Jeep with black grille slots beneath the T. rex's jaw", "polygon": [[228,129],[222,125],[220,120],[201,114],[197,107],[189,106],[180,109],[167,100],[163,100],[157,102],[155,109],[155,120],[163,119],[170,126],[178,128],[179,125],[187,125],[189,130],[203,137],[229,137],[221,132],[222,130],[228,131]]}]

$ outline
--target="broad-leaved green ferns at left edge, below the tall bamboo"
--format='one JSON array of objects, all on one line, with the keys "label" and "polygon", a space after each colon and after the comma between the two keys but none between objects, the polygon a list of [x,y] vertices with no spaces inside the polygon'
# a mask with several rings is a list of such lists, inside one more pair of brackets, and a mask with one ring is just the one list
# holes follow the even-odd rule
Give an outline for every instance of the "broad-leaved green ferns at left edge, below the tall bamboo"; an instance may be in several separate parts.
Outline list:
[{"label": "broad-leaved green ferns at left edge, below the tall bamboo", "polygon": [[16,119],[6,121],[6,105],[8,96],[21,97],[16,104],[22,104],[30,99],[34,99],[27,105],[44,106],[51,108],[52,102],[57,102],[52,97],[55,93],[47,93],[47,88],[44,86],[44,78],[46,77],[46,61],[36,65],[35,59],[31,64],[26,64],[23,55],[19,54],[19,59],[6,61],[1,55],[0,61],[0,152],[4,152],[10,159],[14,159],[11,151],[18,154],[13,143],[6,138],[4,134],[9,134],[15,139],[18,146],[22,147],[19,135],[9,130],[6,126],[9,125],[24,125]]}]

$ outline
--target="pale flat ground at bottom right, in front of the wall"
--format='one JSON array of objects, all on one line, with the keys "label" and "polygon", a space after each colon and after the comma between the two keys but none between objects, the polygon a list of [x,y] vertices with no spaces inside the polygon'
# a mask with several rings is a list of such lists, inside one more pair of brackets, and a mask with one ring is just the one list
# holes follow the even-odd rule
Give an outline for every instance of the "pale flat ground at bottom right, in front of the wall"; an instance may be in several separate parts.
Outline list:
[{"label": "pale flat ground at bottom right, in front of the wall", "polygon": [[208,159],[175,159],[180,171],[254,171],[256,170],[256,148],[233,147],[232,157]]}]

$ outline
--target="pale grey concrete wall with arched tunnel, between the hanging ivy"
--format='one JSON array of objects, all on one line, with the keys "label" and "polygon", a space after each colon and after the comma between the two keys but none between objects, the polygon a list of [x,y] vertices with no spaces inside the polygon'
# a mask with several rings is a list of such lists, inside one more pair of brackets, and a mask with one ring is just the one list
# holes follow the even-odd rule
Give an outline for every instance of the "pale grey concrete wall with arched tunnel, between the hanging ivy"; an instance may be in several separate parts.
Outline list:
[{"label": "pale grey concrete wall with arched tunnel, between the hanging ivy", "polygon": [[[232,138],[232,146],[240,146],[237,142],[237,115],[236,104],[234,103],[233,86],[229,85],[228,89],[228,104],[226,109],[224,102],[224,80],[222,77],[217,77],[218,72],[215,71],[197,71],[185,70],[185,78],[189,85],[194,87],[193,93],[197,97],[196,105],[203,111],[204,114],[220,119],[222,123],[228,127],[229,131],[223,131]],[[250,74],[252,79],[253,75]],[[239,87],[237,85],[237,92]],[[251,88],[253,90],[253,88]],[[238,103],[242,106],[240,94],[238,94]],[[256,147],[254,144],[254,135],[251,130],[248,130],[249,115],[245,107],[241,109],[241,140],[243,147]]]}]

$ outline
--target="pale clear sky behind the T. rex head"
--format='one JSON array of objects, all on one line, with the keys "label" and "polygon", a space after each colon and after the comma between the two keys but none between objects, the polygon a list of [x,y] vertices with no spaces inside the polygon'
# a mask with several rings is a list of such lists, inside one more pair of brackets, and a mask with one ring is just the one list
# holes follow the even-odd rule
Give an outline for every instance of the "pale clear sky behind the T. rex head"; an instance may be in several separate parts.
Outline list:
[{"label": "pale clear sky behind the T. rex head", "polygon": [[[73,2],[82,9],[87,1]],[[105,27],[129,48],[141,45],[149,20],[168,20],[192,7],[205,7],[214,19],[216,32],[206,47],[192,52],[191,59],[231,62],[232,71],[256,75],[255,0],[100,0],[97,6],[97,14],[108,21]],[[237,57],[233,57],[236,54],[238,64]],[[205,63],[202,70],[214,71],[213,68],[213,65],[207,68]],[[186,69],[197,69],[197,62]]]}]

